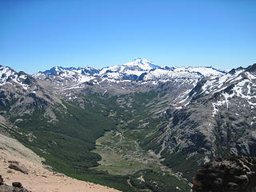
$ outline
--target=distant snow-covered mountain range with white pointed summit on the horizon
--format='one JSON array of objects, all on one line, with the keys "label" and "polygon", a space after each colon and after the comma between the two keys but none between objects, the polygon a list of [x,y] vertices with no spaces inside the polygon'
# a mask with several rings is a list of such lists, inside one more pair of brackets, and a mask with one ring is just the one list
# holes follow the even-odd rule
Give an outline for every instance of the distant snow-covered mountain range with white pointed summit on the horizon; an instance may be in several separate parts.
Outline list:
[{"label": "distant snow-covered mountain range with white pointed summit on the horizon", "polygon": [[222,76],[226,72],[213,67],[161,67],[146,58],[136,58],[122,65],[107,66],[96,70],[90,66],[69,67],[54,66],[50,70],[34,74],[38,80],[53,82],[64,89],[76,89],[86,84],[104,84],[112,82],[136,82],[138,84],[157,85],[165,82],[185,82],[194,84],[205,77]]}]

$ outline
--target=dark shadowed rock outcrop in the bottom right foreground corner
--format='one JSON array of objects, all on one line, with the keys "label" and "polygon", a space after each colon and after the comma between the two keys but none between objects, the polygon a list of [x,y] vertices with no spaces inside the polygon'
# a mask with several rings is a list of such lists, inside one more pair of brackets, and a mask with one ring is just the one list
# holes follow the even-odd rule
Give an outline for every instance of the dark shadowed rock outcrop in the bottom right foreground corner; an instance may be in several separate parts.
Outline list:
[{"label": "dark shadowed rock outcrop in the bottom right foreground corner", "polygon": [[228,156],[202,166],[193,179],[193,192],[255,192],[256,158]]}]

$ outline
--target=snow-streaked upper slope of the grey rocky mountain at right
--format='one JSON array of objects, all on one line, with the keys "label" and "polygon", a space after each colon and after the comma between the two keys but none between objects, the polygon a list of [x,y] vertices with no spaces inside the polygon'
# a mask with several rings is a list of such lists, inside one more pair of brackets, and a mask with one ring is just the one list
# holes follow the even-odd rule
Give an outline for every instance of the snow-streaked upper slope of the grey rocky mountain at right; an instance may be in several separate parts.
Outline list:
[{"label": "snow-streaked upper slope of the grey rocky mountain at right", "polygon": [[[222,76],[203,78],[190,91],[190,97],[184,99],[182,103],[199,101],[200,99],[204,103],[206,103],[205,101],[211,102],[212,117],[215,117],[218,111],[223,109],[238,110],[241,106],[246,107],[246,109],[254,109],[256,106],[255,70],[256,64],[247,68],[239,67],[230,70],[229,73]],[[236,114],[238,115],[238,111],[236,111]]]}]

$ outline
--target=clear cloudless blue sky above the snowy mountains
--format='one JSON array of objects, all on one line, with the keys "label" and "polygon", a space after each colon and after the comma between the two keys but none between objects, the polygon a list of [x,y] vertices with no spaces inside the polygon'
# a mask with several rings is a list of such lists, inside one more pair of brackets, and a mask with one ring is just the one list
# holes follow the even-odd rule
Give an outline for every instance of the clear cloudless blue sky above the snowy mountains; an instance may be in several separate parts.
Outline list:
[{"label": "clear cloudless blue sky above the snowy mountains", "polygon": [[255,10],[254,0],[0,0],[0,64],[245,67],[256,62]]}]

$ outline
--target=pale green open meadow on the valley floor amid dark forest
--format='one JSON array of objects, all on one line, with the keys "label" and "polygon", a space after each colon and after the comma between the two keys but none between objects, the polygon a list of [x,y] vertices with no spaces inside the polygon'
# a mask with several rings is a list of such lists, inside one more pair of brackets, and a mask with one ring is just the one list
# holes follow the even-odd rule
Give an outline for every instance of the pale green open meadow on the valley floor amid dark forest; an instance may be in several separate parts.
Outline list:
[{"label": "pale green open meadow on the valley floor amid dark forest", "polygon": [[162,166],[156,155],[142,150],[134,139],[125,138],[120,132],[110,131],[96,141],[96,150],[102,160],[93,169],[106,170],[110,174],[134,174],[138,170],[153,169],[171,172]]}]

